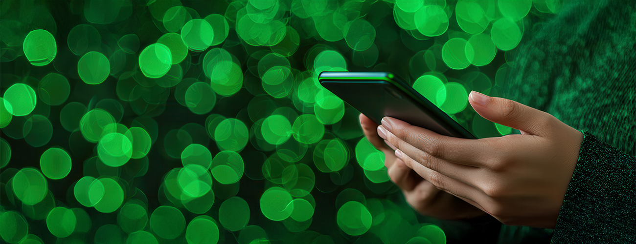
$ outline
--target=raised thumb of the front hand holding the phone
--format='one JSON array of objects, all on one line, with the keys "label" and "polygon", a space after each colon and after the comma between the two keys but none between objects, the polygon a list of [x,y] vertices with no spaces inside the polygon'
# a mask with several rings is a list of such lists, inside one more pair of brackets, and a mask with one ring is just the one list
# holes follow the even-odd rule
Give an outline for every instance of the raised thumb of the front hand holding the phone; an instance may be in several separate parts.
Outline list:
[{"label": "raised thumb of the front hand holding the phone", "polygon": [[522,131],[522,134],[545,136],[555,118],[550,113],[505,98],[471,91],[468,101],[484,119]]}]

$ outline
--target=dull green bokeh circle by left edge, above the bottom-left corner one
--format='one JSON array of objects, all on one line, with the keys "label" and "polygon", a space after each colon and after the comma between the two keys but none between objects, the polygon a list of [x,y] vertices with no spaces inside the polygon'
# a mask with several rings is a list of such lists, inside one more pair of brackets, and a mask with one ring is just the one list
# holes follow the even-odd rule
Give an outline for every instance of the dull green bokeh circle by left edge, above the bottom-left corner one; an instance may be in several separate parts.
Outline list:
[{"label": "dull green bokeh circle by left edge, above the bottom-left corner one", "polygon": [[36,205],[48,193],[48,184],[38,170],[24,168],[13,176],[13,193],[22,203]]}]

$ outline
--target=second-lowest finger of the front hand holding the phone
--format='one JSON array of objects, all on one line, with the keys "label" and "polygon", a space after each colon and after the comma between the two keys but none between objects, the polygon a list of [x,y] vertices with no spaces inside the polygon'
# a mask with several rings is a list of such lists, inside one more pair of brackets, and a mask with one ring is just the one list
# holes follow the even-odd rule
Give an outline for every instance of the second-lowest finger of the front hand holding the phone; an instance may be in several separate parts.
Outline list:
[{"label": "second-lowest finger of the front hand holding the phone", "polygon": [[483,178],[480,177],[483,173],[478,172],[476,167],[453,164],[452,162],[432,157],[410,144],[406,144],[404,148],[396,150],[395,154],[405,165],[422,165],[425,169],[433,170],[435,173],[442,174],[473,188],[476,188],[477,179]]}]

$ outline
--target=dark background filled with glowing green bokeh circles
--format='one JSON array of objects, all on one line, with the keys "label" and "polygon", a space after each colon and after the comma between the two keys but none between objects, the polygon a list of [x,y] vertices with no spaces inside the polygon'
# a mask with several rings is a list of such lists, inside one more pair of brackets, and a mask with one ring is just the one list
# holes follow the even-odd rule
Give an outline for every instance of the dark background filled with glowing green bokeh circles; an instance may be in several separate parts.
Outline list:
[{"label": "dark background filled with glowing green bokeh circles", "polygon": [[506,97],[530,16],[560,4],[0,1],[1,241],[496,235],[411,209],[359,112],[317,75],[393,72],[479,138],[515,133],[467,94]]}]

